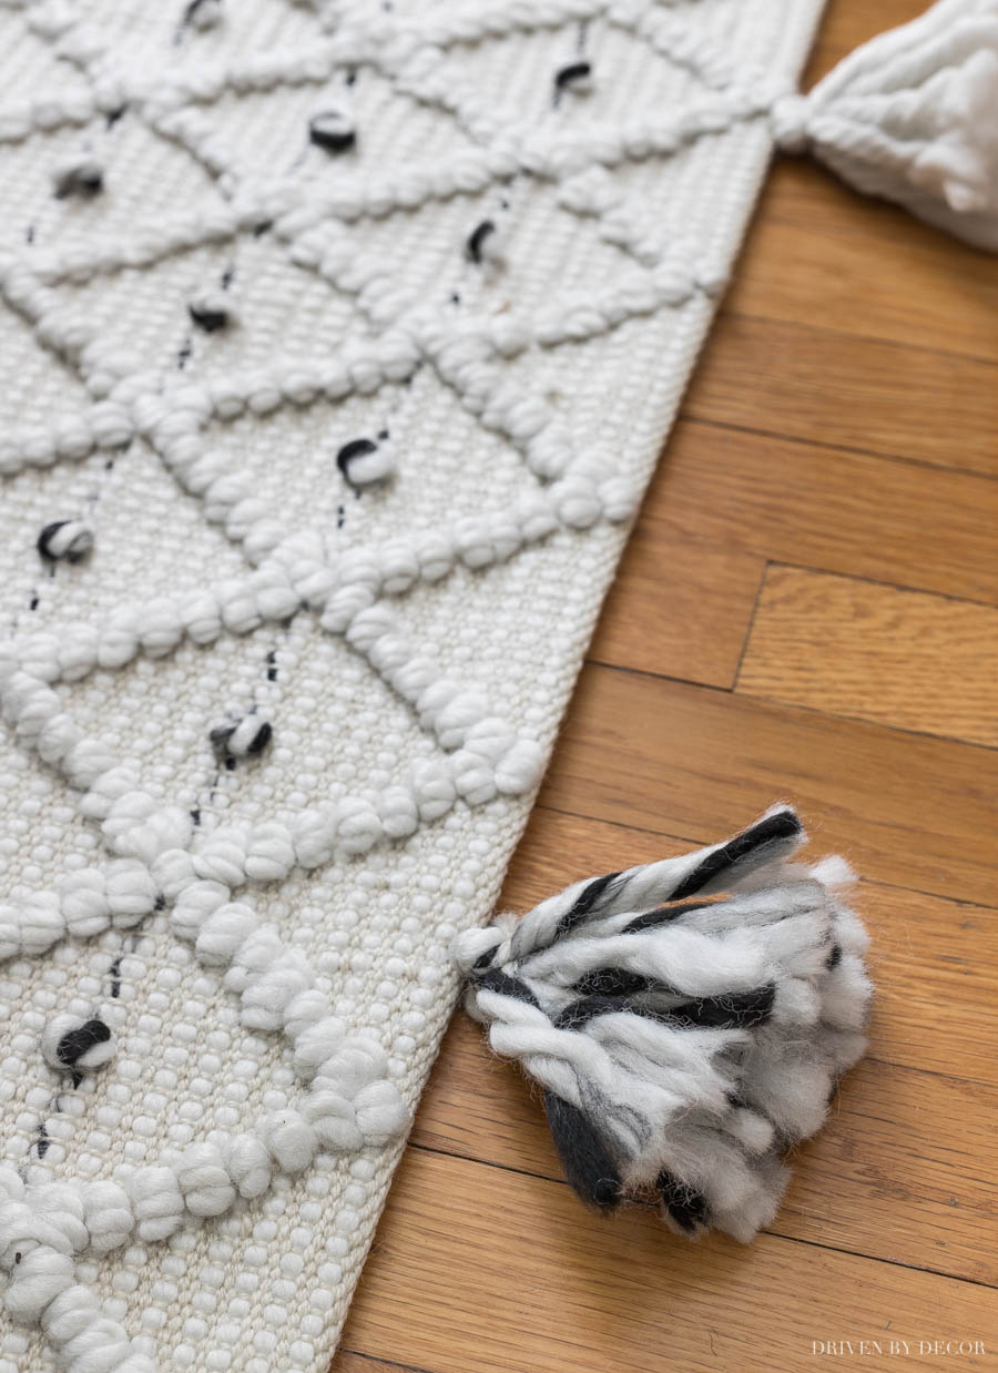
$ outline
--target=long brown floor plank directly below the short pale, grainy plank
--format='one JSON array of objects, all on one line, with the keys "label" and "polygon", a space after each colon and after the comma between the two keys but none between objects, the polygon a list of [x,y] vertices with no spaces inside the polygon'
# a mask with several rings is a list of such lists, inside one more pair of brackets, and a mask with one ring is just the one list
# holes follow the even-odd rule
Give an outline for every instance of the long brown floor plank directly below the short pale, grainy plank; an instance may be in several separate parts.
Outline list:
[{"label": "long brown floor plank directly below the short pale, grainy plank", "polygon": [[785,798],[870,880],[991,906],[997,794],[991,750],[590,665],[541,800],[718,839]]}]

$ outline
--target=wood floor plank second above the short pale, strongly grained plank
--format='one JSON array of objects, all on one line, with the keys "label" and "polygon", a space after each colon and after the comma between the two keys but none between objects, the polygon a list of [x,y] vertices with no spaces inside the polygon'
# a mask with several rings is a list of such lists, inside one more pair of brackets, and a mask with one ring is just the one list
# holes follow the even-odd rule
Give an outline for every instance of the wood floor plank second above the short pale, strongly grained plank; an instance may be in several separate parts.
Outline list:
[{"label": "wood floor plank second above the short pale, strongly grained plank", "polygon": [[682,413],[998,476],[995,364],[839,334],[822,319],[722,310]]}]

